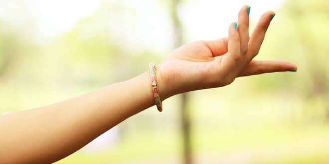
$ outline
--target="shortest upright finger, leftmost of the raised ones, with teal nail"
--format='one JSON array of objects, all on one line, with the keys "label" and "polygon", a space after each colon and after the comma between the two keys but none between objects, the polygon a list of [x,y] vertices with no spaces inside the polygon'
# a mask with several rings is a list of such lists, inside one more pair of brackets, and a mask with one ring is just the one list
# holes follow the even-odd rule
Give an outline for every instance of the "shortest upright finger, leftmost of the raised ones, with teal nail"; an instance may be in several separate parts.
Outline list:
[{"label": "shortest upright finger, leftmost of the raised ones, with teal nail", "polygon": [[231,23],[228,30],[227,52],[230,58],[237,60],[240,58],[240,36],[236,22]]}]

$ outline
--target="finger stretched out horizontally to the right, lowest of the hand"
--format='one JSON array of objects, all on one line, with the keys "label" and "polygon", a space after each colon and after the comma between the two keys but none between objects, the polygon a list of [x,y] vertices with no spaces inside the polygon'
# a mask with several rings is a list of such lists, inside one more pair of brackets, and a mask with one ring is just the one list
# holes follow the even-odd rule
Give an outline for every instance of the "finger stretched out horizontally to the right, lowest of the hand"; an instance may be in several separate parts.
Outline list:
[{"label": "finger stretched out horizontally to the right, lowest of the hand", "polygon": [[258,61],[252,60],[249,65],[240,73],[239,76],[249,76],[263,73],[281,72],[281,71],[296,71],[297,66],[279,60]]}]

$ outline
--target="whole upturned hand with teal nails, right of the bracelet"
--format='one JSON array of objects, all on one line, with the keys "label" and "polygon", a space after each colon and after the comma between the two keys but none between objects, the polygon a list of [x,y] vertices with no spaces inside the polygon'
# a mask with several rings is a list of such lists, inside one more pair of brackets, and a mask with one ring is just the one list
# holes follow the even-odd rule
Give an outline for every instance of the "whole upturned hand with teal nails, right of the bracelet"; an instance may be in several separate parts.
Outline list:
[{"label": "whole upturned hand with teal nails, right of the bracelet", "polygon": [[229,26],[228,37],[185,44],[158,66],[159,86],[168,92],[164,98],[192,90],[225,86],[240,76],[297,70],[294,64],[285,61],[253,60],[275,14],[273,11],[264,13],[249,37],[247,10],[248,6],[241,8],[238,23]]}]

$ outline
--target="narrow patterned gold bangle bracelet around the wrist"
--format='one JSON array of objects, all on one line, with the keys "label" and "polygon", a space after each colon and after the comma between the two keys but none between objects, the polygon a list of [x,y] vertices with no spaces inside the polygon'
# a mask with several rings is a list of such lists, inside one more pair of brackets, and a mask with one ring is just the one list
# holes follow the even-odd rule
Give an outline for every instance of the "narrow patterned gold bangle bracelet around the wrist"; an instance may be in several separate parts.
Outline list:
[{"label": "narrow patterned gold bangle bracelet around the wrist", "polygon": [[152,86],[153,97],[156,102],[158,111],[161,112],[162,103],[160,100],[160,96],[158,93],[158,87],[157,87],[157,80],[156,80],[156,74],[155,74],[156,65],[153,62],[150,62],[149,67],[150,67],[151,86]]}]

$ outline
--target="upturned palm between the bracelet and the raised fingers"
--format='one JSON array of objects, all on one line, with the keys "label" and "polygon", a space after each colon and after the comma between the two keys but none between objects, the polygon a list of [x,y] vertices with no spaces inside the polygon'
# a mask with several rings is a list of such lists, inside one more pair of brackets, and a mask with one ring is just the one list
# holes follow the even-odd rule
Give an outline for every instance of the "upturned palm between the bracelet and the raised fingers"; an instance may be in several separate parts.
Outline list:
[{"label": "upturned palm between the bracelet and the raised fingers", "polygon": [[[217,57],[222,58],[222,56]],[[188,90],[208,88],[198,85],[205,81],[215,71],[216,64],[211,49],[203,41],[192,42],[174,50],[161,63],[160,69],[167,82],[180,83],[181,86],[189,86]],[[192,87],[192,88],[191,88]],[[188,90],[185,87],[175,88],[178,92]]]}]

